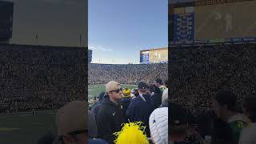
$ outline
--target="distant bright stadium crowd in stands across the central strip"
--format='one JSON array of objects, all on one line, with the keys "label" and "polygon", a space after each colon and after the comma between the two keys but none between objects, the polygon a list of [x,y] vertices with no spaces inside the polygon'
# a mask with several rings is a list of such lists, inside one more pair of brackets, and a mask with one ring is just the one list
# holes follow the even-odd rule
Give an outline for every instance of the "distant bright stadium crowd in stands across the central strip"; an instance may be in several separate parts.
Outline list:
[{"label": "distant bright stadium crowd in stands across the central strip", "polygon": [[154,82],[154,78],[161,76],[168,78],[168,64],[94,64],[90,63],[88,67],[89,84],[105,84],[111,80],[122,84],[137,84],[139,81]]}]

